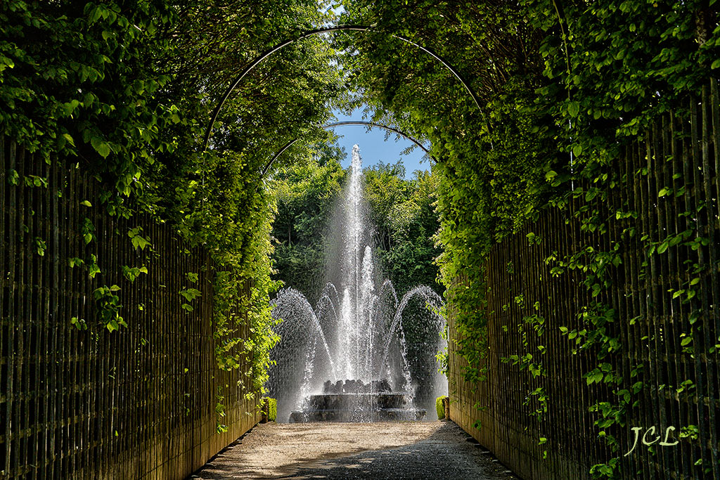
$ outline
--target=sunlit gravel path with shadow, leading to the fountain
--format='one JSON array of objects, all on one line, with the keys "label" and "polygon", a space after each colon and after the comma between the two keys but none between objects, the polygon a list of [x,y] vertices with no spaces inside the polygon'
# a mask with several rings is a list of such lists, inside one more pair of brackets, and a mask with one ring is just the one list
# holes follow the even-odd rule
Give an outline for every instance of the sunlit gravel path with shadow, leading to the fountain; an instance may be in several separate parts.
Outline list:
[{"label": "sunlit gravel path with shadow, leading to the fountain", "polygon": [[452,422],[267,423],[191,479],[508,480]]}]

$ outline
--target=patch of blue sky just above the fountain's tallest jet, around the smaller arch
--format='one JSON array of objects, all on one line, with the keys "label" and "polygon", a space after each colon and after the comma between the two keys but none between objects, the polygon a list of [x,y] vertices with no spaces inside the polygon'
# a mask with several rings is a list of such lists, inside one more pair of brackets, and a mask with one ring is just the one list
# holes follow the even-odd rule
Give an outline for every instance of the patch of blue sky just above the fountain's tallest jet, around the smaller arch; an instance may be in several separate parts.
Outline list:
[{"label": "patch of blue sky just above the fountain's tallest jet, around the smaller arch", "polygon": [[[362,120],[362,111],[356,110],[351,115],[344,115],[337,110],[333,110],[333,114],[337,117],[338,122],[346,120]],[[430,160],[423,158],[425,152],[420,148],[415,148],[408,155],[400,155],[402,150],[415,145],[410,140],[400,137],[395,141],[397,135],[390,133],[390,137],[385,141],[385,130],[373,127],[369,132],[364,125],[347,125],[336,127],[336,134],[341,135],[338,143],[345,148],[346,158],[341,161],[341,165],[346,168],[350,165],[350,153],[353,145],[356,143],[360,147],[360,155],[362,155],[362,163],[364,166],[374,166],[379,162],[395,163],[402,160],[405,166],[405,178],[413,178],[415,170],[430,170]],[[422,161],[422,163],[420,163]]]}]

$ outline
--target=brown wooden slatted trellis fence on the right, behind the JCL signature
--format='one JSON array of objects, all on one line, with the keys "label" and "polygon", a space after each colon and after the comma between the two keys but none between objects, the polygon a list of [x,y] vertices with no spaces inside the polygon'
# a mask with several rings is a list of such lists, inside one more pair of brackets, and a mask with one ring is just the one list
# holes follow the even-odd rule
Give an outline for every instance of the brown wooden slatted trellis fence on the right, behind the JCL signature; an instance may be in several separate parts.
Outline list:
[{"label": "brown wooden slatted trellis fence on the right, behind the JCL signature", "polygon": [[[606,201],[599,196],[591,201],[608,218],[605,235],[581,230],[575,214],[582,217],[580,208],[588,202],[577,199],[569,209],[546,210],[492,248],[487,263],[487,381],[464,381],[467,363],[453,348],[451,319],[450,418],[523,478],[590,478],[591,466],[613,457],[620,458],[626,478],[720,478],[719,106],[717,82],[711,81],[701,98],[683,106],[682,114],[658,119],[644,141],[629,145],[608,167],[620,182]],[[638,215],[616,218],[618,211]],[[616,398],[607,384],[588,385],[583,375],[598,366],[595,353],[573,353],[575,340],[559,328],[587,327],[577,315],[590,302],[590,291],[577,270],[552,276],[557,263],[546,259],[588,247],[608,251],[629,228],[636,235],[621,242],[622,263],[613,269],[613,287],[600,295],[616,310],[608,328],[621,343],[618,353],[603,361],[618,369],[627,388],[635,381],[644,386],[632,397],[638,405],[626,426],[613,430],[620,446],[612,453],[593,424],[598,413],[588,409]],[[686,230],[690,235],[684,243],[660,248],[667,237]],[[530,233],[536,237],[528,239]],[[645,234],[649,238],[642,240]],[[698,237],[706,244],[693,248],[690,243]],[[648,255],[652,244],[656,252]],[[690,288],[698,294],[689,301],[688,294],[677,294]],[[541,336],[525,322],[534,315],[544,319]],[[538,345],[546,348],[545,354]],[[503,361],[527,352],[546,368],[545,376]],[[642,369],[631,379],[636,366]],[[538,417],[531,415],[541,409],[538,395],[531,392],[539,387],[547,395],[547,412]],[[476,420],[480,430],[473,426]],[[642,427],[640,440],[624,456],[634,443],[632,427]],[[675,427],[667,443],[679,443],[662,446],[656,441],[649,448],[642,435],[650,427],[655,430],[648,442],[657,435],[665,440],[667,427]]]}]

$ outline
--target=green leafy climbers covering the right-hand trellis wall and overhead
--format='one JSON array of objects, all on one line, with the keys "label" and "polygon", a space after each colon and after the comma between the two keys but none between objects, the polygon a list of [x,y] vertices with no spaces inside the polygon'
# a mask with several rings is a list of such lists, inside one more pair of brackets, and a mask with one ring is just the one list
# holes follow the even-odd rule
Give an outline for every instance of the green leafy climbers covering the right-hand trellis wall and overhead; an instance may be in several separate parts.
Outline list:
[{"label": "green leafy climbers covering the right-hand trellis wall and overhead", "polygon": [[[690,230],[703,230],[696,240],[669,232],[664,240],[655,240],[654,225],[641,222],[642,212],[632,203],[608,213],[593,202],[618,198],[618,186],[627,180],[618,170],[618,159],[626,156],[624,149],[630,145],[644,145],[647,139],[660,135],[660,128],[667,129],[658,127],[663,113],[674,109],[678,118],[688,122],[688,116],[693,116],[691,104],[697,105],[701,96],[707,106],[703,125],[709,109],[716,111],[716,105],[710,107],[707,101],[711,98],[709,90],[715,88],[708,80],[717,76],[720,66],[720,28],[713,4],[358,0],[346,5],[346,22],[377,24],[378,30],[374,35],[338,40],[347,49],[344,65],[351,72],[357,95],[368,102],[375,118],[431,140],[433,156],[439,160],[438,239],[443,253],[438,263],[448,289],[449,309],[456,320],[456,353],[466,362],[462,367],[465,381],[480,386],[487,373],[487,318],[500,307],[487,304],[485,266],[493,244],[548,209],[558,209],[568,221],[580,219],[583,235],[587,232],[603,239],[610,238],[616,220],[636,219],[607,247],[601,247],[606,244],[599,240],[580,237],[573,244],[574,251],[546,258],[553,266],[553,275],[580,271],[582,285],[588,290],[588,298],[575,305],[577,317],[573,320],[581,326],[563,325],[561,331],[575,340],[582,352],[592,355],[593,363],[585,372],[588,385],[600,382],[608,389],[593,397],[596,403],[590,406],[596,417],[588,435],[598,435],[609,448],[607,458],[588,468],[593,476],[620,478],[636,473],[627,470],[618,452],[618,440],[626,440],[632,426],[626,423],[627,415],[643,395],[667,388],[662,382],[644,384],[636,380],[636,368],[655,368],[652,362],[638,360],[624,371],[613,367],[620,364],[620,356],[628,354],[620,346],[618,331],[611,327],[613,322],[639,321],[621,317],[607,300],[618,291],[618,271],[630,268],[622,253],[633,242],[641,242],[647,258],[640,262],[636,275],[644,279],[654,271],[654,255],[681,249],[682,245],[702,248],[698,245],[712,244],[714,235],[703,230],[703,214],[689,203],[682,214],[691,219]],[[446,58],[469,78],[479,105],[441,65],[393,34],[410,37]],[[690,96],[694,96],[693,101]],[[699,117],[689,122],[700,125]],[[675,127],[675,135],[679,129]],[[690,130],[687,123],[683,129]],[[708,130],[697,130],[695,135],[694,140],[686,139],[696,148],[693,161],[698,165],[698,146],[706,145],[703,151],[710,155],[711,167],[703,167],[703,171],[711,175],[712,148],[703,143],[706,140],[698,140],[701,135],[709,137]],[[649,147],[643,151],[647,150]],[[678,152],[668,150],[665,158],[677,160],[672,155],[680,155]],[[670,191],[678,196],[689,194],[687,189],[671,187],[672,182],[663,177],[660,166],[652,166],[651,154],[647,155],[647,167],[627,176],[647,176],[648,183],[662,178],[667,188],[657,190],[659,199]],[[688,160],[683,157],[683,161]],[[699,184],[699,171],[678,172],[674,179]],[[708,198],[713,195],[712,189],[709,187]],[[570,212],[568,206],[576,199],[577,210]],[[686,235],[691,236],[690,230]],[[535,240],[528,237],[531,244]],[[700,256],[716,258],[712,251],[710,248]],[[706,268],[714,271],[716,264],[688,261],[683,274],[693,276]],[[702,285],[696,281],[691,295],[700,294],[696,289],[704,288],[704,295],[710,298],[710,287]],[[674,294],[685,294],[685,287]],[[546,301],[552,299],[524,299],[528,305]],[[710,307],[694,314],[697,318],[716,318]],[[644,311],[641,318],[648,316]],[[694,318],[678,320],[687,335],[697,335],[701,329]],[[528,314],[517,320],[523,335],[542,338],[541,317]],[[505,338],[502,331],[494,335]],[[685,345],[690,343],[687,335]],[[712,331],[707,335],[714,338]],[[509,334],[507,338],[511,341]],[[652,341],[654,337],[642,338]],[[544,349],[568,347],[539,341],[542,348],[525,347],[527,351],[503,361],[526,371],[531,378],[543,376]],[[706,353],[715,351],[712,342],[703,345]],[[676,346],[675,351],[689,353],[683,345]],[[693,382],[693,378],[688,373],[672,388],[684,391],[683,381]],[[527,398],[540,404],[554,401],[541,390],[528,389]],[[651,409],[654,404],[642,408]],[[544,437],[538,439],[540,444],[546,441]],[[702,458],[693,456],[692,462],[699,462],[693,463],[698,467],[696,474],[716,472],[717,459],[708,453],[711,451],[703,451]]]}]

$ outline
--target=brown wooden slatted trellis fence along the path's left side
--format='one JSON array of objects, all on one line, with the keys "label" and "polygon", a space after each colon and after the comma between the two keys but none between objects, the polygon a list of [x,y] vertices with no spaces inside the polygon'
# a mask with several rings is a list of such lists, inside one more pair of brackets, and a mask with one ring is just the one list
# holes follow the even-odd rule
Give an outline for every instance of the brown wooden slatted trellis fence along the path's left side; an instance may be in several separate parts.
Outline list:
[{"label": "brown wooden slatted trellis fence along the path's left side", "polygon": [[[110,217],[101,192],[0,137],[1,478],[184,478],[260,419],[247,366],[217,369],[208,253],[144,215]],[[148,273],[131,283],[123,266]],[[98,321],[102,286],[120,287],[119,331]]]}]

